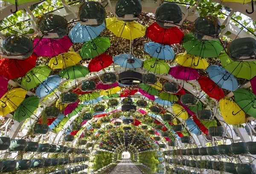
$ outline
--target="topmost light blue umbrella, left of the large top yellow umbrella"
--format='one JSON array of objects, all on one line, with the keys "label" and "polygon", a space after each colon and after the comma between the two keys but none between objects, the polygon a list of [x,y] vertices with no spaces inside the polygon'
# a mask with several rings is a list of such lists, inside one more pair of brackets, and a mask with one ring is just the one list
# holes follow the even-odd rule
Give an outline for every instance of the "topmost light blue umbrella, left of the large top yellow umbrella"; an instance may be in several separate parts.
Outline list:
[{"label": "topmost light blue umbrella, left of the large top yellow umbrella", "polygon": [[68,36],[73,43],[84,43],[98,37],[105,28],[105,23],[97,27],[90,27],[76,22],[76,25],[71,29]]}]

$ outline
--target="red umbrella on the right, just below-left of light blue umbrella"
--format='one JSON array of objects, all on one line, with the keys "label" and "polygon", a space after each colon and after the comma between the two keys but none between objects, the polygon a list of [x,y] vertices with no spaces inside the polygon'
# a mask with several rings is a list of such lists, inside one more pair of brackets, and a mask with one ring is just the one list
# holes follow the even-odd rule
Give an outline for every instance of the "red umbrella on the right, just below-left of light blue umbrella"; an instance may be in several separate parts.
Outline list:
[{"label": "red umbrella on the right, just below-left of light blue umbrella", "polygon": [[200,84],[201,89],[209,95],[211,98],[215,98],[216,100],[220,100],[224,98],[223,90],[215,84],[210,78],[205,76],[200,76],[198,78],[198,83]]}]

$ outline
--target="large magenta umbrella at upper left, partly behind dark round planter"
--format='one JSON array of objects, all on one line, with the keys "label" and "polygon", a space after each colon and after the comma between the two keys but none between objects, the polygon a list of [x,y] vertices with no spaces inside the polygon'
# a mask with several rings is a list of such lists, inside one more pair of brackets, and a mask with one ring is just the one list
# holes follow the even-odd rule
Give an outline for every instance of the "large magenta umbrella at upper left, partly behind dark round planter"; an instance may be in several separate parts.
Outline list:
[{"label": "large magenta umbrella at upper left, partly behind dark round planter", "polygon": [[54,57],[67,52],[73,45],[73,42],[64,36],[61,39],[38,38],[34,39],[34,53],[39,57]]}]

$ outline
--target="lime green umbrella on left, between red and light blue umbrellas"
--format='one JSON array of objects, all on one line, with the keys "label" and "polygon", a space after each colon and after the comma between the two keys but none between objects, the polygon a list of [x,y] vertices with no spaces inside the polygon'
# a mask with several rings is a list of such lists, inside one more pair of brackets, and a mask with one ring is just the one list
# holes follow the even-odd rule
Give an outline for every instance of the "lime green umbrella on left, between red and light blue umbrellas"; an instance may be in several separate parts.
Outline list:
[{"label": "lime green umbrella on left, between red and light blue umbrellas", "polygon": [[22,79],[21,87],[25,90],[31,90],[34,87],[37,87],[45,79],[48,78],[52,69],[47,65],[39,65],[26,73],[25,78]]}]

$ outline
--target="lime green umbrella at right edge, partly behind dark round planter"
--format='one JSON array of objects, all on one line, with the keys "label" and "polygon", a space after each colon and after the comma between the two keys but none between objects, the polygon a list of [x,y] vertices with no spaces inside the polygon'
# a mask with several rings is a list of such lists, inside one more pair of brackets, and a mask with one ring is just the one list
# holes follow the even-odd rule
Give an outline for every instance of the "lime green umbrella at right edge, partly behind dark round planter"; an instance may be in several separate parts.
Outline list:
[{"label": "lime green umbrella at right edge, partly behind dark round planter", "polygon": [[238,78],[250,80],[256,76],[256,61],[233,61],[225,51],[219,59],[221,65]]}]

